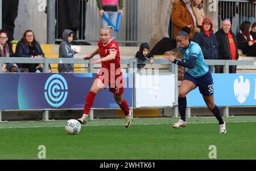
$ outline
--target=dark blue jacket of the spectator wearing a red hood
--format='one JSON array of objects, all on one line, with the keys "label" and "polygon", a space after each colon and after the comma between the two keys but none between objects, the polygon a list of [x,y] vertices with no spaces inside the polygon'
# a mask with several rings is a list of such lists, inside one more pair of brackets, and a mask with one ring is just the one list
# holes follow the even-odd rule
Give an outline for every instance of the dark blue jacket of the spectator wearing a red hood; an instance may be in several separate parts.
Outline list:
[{"label": "dark blue jacket of the spectator wearing a red hood", "polygon": [[218,59],[218,44],[212,32],[208,37],[203,30],[195,33],[193,41],[199,44],[204,54],[204,59]]}]

